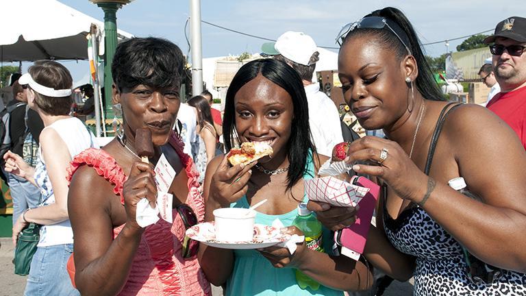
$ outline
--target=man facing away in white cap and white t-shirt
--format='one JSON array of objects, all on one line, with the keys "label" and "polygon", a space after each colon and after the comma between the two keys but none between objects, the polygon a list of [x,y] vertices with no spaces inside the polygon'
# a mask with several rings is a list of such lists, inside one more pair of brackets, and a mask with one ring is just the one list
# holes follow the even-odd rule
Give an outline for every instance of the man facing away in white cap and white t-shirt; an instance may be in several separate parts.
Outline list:
[{"label": "man facing away in white cap and white t-shirt", "polygon": [[279,36],[276,42],[264,43],[262,51],[289,64],[301,77],[309,106],[312,140],[318,153],[331,156],[334,146],[343,142],[342,129],[338,108],[320,91],[318,82],[312,82],[319,60],[316,42],[301,32],[288,31]]}]

